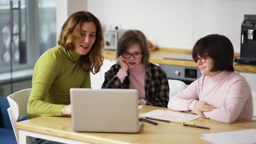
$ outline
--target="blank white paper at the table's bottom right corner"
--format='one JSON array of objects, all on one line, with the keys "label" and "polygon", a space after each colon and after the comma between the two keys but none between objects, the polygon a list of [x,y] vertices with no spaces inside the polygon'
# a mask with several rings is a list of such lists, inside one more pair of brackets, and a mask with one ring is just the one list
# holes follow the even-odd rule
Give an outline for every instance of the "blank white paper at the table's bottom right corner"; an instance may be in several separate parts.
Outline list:
[{"label": "blank white paper at the table's bottom right corner", "polygon": [[256,143],[256,129],[202,134],[203,140],[219,144]]}]

